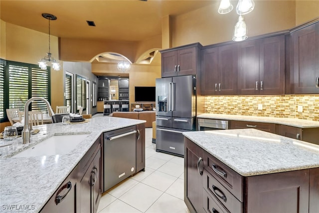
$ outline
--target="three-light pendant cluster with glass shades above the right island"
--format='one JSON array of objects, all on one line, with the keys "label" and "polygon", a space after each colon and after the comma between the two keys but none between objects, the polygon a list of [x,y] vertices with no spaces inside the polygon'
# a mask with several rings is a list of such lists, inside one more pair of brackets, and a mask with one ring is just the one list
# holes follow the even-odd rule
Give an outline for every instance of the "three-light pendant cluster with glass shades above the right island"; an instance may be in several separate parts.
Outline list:
[{"label": "three-light pendant cluster with glass shades above the right island", "polygon": [[[243,41],[248,38],[247,36],[247,28],[246,23],[244,21],[244,17],[242,15],[251,12],[255,7],[254,0],[239,0],[236,6],[236,12],[239,14],[238,21],[234,27],[233,33],[233,41]],[[221,0],[218,13],[226,14],[233,9],[233,5],[231,4],[231,0]]]}]

